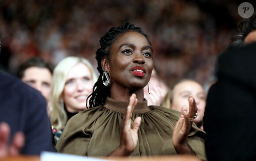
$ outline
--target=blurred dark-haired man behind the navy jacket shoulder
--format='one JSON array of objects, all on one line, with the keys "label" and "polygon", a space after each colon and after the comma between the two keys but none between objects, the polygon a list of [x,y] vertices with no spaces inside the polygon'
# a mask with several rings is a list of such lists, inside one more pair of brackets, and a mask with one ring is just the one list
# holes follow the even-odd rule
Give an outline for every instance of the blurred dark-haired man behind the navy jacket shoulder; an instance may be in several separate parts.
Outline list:
[{"label": "blurred dark-haired man behind the navy jacket shoulder", "polygon": [[17,76],[23,82],[37,89],[48,102],[47,113],[49,116],[49,97],[54,66],[40,57],[33,57],[20,65]]}]

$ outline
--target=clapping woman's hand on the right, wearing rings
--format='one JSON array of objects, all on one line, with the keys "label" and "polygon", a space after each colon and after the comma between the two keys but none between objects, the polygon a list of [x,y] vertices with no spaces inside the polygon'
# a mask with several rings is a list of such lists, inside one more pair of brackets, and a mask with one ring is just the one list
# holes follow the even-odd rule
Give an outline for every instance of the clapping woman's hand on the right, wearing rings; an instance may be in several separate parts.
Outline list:
[{"label": "clapping woman's hand on the right, wearing rings", "polygon": [[195,152],[188,145],[188,134],[192,127],[193,119],[196,116],[197,107],[192,95],[188,97],[188,102],[189,112],[187,106],[182,107],[181,116],[173,129],[172,141],[177,154],[195,155]]}]

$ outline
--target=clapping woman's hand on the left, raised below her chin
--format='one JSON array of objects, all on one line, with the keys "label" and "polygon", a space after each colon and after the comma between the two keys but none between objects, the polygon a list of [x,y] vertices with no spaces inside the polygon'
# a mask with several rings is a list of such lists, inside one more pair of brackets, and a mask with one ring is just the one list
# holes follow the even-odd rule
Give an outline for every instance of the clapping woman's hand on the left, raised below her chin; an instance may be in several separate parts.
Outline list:
[{"label": "clapping woman's hand on the left, raised below her chin", "polygon": [[132,128],[131,118],[133,109],[135,108],[137,102],[138,99],[136,98],[136,94],[132,94],[127,110],[126,112],[124,112],[124,117],[121,124],[120,146],[116,150],[114,150],[109,156],[128,156],[132,154],[133,150],[136,148],[141,118],[136,117]]}]

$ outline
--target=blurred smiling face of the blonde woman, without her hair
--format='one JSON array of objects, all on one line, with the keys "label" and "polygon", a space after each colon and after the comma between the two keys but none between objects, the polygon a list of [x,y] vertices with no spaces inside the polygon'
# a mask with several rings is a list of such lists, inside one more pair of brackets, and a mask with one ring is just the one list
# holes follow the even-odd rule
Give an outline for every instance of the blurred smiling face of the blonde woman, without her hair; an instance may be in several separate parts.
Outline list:
[{"label": "blurred smiling face of the blonde woman, without her hair", "polygon": [[86,99],[92,93],[92,76],[87,65],[76,64],[68,72],[63,100],[68,112],[80,112],[86,108]]}]

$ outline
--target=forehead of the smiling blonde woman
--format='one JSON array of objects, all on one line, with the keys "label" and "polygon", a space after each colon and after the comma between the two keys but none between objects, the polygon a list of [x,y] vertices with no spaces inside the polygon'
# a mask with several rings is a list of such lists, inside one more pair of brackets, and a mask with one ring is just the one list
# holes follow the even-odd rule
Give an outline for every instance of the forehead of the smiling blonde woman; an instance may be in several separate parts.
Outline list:
[{"label": "forehead of the smiling blonde woman", "polygon": [[67,79],[90,76],[90,69],[83,63],[78,63],[68,71]]}]

